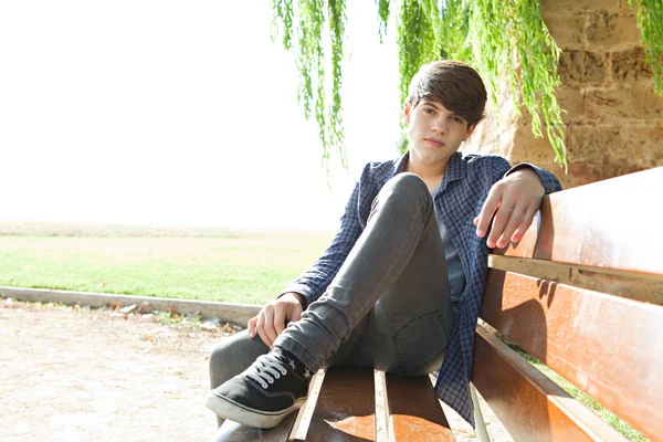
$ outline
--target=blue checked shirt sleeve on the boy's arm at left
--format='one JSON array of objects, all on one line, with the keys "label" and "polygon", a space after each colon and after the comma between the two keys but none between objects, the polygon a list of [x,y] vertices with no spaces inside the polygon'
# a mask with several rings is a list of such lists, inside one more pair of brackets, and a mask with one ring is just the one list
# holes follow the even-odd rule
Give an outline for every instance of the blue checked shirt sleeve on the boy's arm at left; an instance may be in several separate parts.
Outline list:
[{"label": "blue checked shirt sleeve on the boy's arm at left", "polygon": [[358,204],[361,182],[367,173],[368,166],[364,169],[361,179],[355,185],[352,194],[340,219],[340,228],[332,239],[332,243],[325,253],[293,281],[282,295],[287,292],[302,294],[306,298],[306,305],[304,306],[306,308],[327,290],[361,234],[362,228],[359,222]]}]

